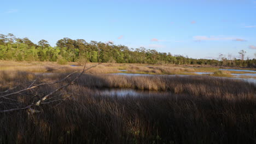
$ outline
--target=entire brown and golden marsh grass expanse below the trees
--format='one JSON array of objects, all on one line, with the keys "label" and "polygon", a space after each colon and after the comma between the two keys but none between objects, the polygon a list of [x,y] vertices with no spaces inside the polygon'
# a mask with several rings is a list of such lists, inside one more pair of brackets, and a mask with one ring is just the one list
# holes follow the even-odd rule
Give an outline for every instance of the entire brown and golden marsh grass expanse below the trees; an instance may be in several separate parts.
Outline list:
[{"label": "entire brown and golden marsh grass expanse below the trees", "polygon": [[[74,67],[77,63],[0,63],[1,143],[254,143],[256,140],[253,83],[219,77],[222,72],[217,72],[218,77],[181,75],[196,71],[214,73],[218,67],[102,63],[79,76],[74,72],[82,71],[83,67]],[[95,64],[86,64],[86,68]],[[153,75],[113,74],[120,72]],[[42,83],[47,85],[38,86]],[[65,85],[68,86],[59,89]],[[34,86],[38,87],[19,92]],[[45,95],[49,97],[37,105]],[[19,109],[29,105],[27,109]]]}]

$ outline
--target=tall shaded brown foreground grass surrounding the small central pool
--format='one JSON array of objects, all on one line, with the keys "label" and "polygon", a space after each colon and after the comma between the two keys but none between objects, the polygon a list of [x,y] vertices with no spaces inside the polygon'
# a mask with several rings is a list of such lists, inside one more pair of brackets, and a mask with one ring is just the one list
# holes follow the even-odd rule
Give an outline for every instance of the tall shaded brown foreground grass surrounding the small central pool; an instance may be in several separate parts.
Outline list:
[{"label": "tall shaded brown foreground grass surrounding the small central pool", "polygon": [[[0,92],[34,79],[60,80],[67,74],[0,73]],[[9,84],[10,83],[10,84]],[[65,82],[66,83],[66,82]],[[56,86],[13,95],[31,103]],[[91,88],[171,91],[163,97],[106,97]],[[86,75],[65,91],[73,97],[28,111],[0,113],[0,143],[255,143],[256,87],[207,76]],[[10,90],[12,92],[14,90]],[[60,93],[57,93],[58,95]],[[0,110],[13,107],[1,99]]]}]

